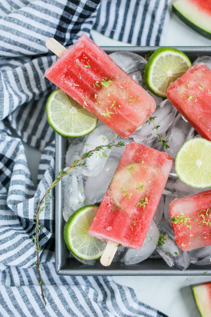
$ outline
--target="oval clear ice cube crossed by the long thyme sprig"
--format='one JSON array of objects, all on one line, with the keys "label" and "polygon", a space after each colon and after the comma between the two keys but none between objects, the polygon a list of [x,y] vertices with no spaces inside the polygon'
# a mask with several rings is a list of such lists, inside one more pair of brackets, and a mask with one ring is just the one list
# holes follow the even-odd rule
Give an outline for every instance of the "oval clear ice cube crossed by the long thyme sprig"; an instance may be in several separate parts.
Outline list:
[{"label": "oval clear ice cube crossed by the long thyme sprig", "polygon": [[[86,139],[82,153],[89,152],[97,146],[114,144],[117,134],[109,129],[108,126],[102,125],[91,132]],[[94,152],[90,158],[86,159],[86,165],[82,166],[82,174],[86,176],[96,176],[102,171],[111,149],[104,147],[102,150]]]}]

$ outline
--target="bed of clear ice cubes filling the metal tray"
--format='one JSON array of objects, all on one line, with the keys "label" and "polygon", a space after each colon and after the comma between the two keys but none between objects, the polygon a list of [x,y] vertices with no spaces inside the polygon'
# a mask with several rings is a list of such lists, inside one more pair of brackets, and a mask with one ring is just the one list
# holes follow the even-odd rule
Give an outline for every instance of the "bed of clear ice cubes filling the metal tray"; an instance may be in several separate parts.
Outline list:
[{"label": "bed of clear ice cubes filling the metal tray", "polygon": [[[110,56],[144,87],[144,66],[146,64],[144,58],[130,52],[117,52]],[[211,57],[199,57],[194,64],[197,62],[204,62],[208,67],[211,67]],[[70,140],[71,144],[66,153],[66,166],[70,166],[75,159],[96,146],[115,144],[119,141],[124,141],[125,144],[133,141],[146,144],[160,151],[166,151],[175,160],[179,148],[186,140],[194,135],[200,136],[196,135],[195,130],[187,121],[184,121],[181,114],[168,100],[162,100],[162,98],[150,94],[156,100],[156,111],[152,114],[155,125],[159,126],[158,132],[162,133],[163,139],[168,140],[170,148],[162,149],[156,130],[153,129],[152,121],[143,124],[127,139],[120,138],[98,121],[97,128],[92,133]],[[84,204],[101,202],[123,152],[124,147],[112,147],[111,150],[104,148],[103,151],[95,152],[92,157],[87,159],[86,166],[74,169],[63,178],[63,215],[65,221]],[[195,189],[181,182],[173,167],[142,248],[135,250],[120,246],[113,261],[121,261],[128,265],[135,264],[153,254],[153,256],[162,257],[170,267],[179,270],[187,268],[190,263],[196,265],[211,264],[211,246],[189,252],[182,251],[174,242],[170,222],[169,204],[171,201],[200,191],[204,191],[204,189]],[[78,260],[86,264],[93,265],[95,263],[95,261]]]}]

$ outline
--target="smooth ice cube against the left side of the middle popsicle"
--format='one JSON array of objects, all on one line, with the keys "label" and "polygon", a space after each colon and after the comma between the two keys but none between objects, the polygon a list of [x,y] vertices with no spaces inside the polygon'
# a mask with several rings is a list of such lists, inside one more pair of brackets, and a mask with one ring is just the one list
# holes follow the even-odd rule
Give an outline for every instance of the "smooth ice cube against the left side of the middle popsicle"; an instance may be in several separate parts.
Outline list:
[{"label": "smooth ice cube against the left side of the middle popsicle", "polygon": [[110,155],[102,171],[94,177],[84,177],[84,195],[86,204],[96,204],[101,202],[109,187],[119,164],[118,156]]}]

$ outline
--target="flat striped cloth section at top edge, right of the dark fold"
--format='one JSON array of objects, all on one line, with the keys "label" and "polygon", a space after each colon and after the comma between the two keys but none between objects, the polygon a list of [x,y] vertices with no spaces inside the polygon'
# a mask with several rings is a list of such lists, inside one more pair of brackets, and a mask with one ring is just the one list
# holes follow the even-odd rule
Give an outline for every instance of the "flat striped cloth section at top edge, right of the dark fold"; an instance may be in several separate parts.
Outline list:
[{"label": "flat striped cloth section at top edge, right of the dark fold", "polygon": [[168,0],[101,0],[94,29],[139,46],[162,45],[169,22]]}]

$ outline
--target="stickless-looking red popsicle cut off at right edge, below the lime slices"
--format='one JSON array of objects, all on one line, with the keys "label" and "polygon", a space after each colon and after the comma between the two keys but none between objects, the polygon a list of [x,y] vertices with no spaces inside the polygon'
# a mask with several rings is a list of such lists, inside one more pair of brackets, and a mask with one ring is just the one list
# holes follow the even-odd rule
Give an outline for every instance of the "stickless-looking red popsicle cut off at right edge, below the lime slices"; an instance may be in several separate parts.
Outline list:
[{"label": "stickless-looking red popsicle cut off at right edge, below the lime slices", "polygon": [[211,245],[211,190],[170,204],[174,240],[184,251]]}]

